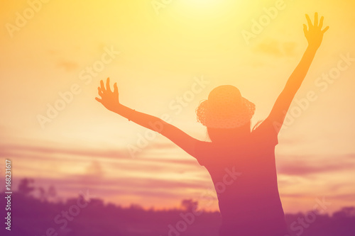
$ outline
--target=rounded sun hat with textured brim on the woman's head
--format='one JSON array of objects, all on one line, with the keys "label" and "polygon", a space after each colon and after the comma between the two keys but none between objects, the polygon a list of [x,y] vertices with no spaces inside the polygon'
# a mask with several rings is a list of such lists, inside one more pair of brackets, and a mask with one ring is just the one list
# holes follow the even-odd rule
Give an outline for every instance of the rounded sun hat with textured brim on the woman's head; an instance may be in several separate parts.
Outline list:
[{"label": "rounded sun hat with textured brim on the woman's head", "polygon": [[237,128],[253,117],[255,104],[241,96],[235,86],[212,89],[207,100],[196,108],[197,122],[209,128]]}]

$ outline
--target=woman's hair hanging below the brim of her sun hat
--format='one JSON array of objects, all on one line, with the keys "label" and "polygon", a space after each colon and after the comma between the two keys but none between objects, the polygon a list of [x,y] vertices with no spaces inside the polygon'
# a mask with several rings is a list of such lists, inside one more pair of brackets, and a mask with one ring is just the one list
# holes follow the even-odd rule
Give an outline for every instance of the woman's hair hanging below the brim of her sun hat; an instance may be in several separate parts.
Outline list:
[{"label": "woman's hair hanging below the brim of her sun hat", "polygon": [[230,142],[239,138],[243,138],[244,135],[249,135],[260,125],[263,120],[259,120],[251,130],[251,121],[238,128],[210,128],[207,127],[207,135],[212,142]]}]

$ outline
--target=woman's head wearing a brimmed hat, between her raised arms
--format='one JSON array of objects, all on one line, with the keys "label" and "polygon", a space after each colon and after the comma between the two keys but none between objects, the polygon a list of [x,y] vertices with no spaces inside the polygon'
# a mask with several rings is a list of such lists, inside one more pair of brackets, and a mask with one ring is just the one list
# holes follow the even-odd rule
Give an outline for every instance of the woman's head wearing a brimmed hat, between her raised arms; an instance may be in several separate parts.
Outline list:
[{"label": "woman's head wearing a brimmed hat, between her raised arms", "polygon": [[197,120],[207,127],[212,142],[250,133],[254,111],[255,105],[231,85],[213,89],[196,109]]}]

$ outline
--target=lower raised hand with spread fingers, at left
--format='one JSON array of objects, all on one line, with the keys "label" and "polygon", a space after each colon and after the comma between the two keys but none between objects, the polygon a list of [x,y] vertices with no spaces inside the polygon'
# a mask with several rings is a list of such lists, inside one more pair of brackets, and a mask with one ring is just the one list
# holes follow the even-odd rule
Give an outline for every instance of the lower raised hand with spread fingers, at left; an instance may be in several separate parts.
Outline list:
[{"label": "lower raised hand with spread fingers, at left", "polygon": [[97,89],[99,90],[99,96],[101,99],[95,98],[99,103],[102,103],[109,111],[116,111],[119,108],[119,89],[117,88],[117,83],[114,83],[114,91],[110,88],[110,79],[107,78],[106,89],[104,82],[101,81]]}]

